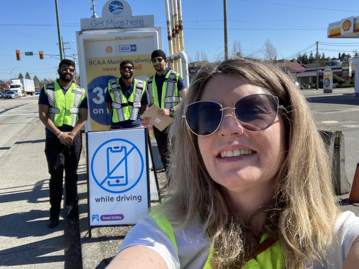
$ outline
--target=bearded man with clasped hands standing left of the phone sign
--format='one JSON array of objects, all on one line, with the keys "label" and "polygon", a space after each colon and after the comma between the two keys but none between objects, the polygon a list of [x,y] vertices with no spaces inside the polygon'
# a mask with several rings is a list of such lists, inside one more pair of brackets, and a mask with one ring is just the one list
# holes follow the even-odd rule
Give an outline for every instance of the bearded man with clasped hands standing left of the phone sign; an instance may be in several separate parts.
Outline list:
[{"label": "bearded man with clasped hands standing left of the phone sign", "polygon": [[78,216],[77,167],[82,149],[80,131],[87,122],[85,90],[72,82],[75,63],[64,59],[57,69],[59,79],[46,84],[39,95],[39,118],[45,125],[45,155],[50,173],[50,222],[59,224],[62,181],[65,170],[67,218]]}]

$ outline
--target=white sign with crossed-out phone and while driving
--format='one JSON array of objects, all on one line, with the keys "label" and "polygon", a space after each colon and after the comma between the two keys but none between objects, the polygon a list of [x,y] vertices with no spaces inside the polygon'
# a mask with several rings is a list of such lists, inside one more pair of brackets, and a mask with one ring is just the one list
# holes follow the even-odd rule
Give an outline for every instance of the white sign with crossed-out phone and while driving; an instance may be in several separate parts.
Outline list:
[{"label": "white sign with crossed-out phone and while driving", "polygon": [[145,128],[87,133],[89,226],[136,224],[150,206]]}]

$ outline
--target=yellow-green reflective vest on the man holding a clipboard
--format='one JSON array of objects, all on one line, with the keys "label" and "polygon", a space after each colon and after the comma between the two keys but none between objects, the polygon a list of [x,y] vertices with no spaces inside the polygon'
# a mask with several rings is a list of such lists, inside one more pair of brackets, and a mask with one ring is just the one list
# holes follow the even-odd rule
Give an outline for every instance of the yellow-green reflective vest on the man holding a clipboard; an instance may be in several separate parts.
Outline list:
[{"label": "yellow-green reflective vest on the man holding a clipboard", "polygon": [[170,109],[174,106],[177,106],[178,102],[180,102],[181,98],[178,95],[178,87],[177,82],[180,77],[179,73],[176,73],[172,70],[166,74],[162,86],[162,96],[161,96],[161,106],[159,105],[157,86],[155,81],[154,74],[147,80],[148,90],[153,99],[153,103],[156,104],[159,108]]}]

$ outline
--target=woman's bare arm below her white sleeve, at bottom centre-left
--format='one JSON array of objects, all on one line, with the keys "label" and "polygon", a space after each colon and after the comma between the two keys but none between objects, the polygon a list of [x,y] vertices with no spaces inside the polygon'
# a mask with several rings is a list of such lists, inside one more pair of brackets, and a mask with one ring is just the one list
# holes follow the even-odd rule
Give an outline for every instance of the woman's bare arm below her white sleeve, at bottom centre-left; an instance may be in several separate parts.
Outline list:
[{"label": "woman's bare arm below her white sleeve, at bottom centre-left", "polygon": [[107,269],[168,269],[163,258],[145,246],[131,246],[122,250],[106,267]]}]

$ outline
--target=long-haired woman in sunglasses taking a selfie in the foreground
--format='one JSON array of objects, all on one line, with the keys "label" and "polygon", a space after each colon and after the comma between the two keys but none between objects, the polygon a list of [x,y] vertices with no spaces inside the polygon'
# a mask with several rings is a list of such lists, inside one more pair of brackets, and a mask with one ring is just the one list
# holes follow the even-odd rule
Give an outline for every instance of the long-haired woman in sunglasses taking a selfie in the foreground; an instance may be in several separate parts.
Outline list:
[{"label": "long-haired woman in sunglasses taking a selfie in the foreground", "polygon": [[108,268],[358,268],[359,218],[335,204],[308,104],[270,63],[192,80],[171,125],[173,184]]}]

